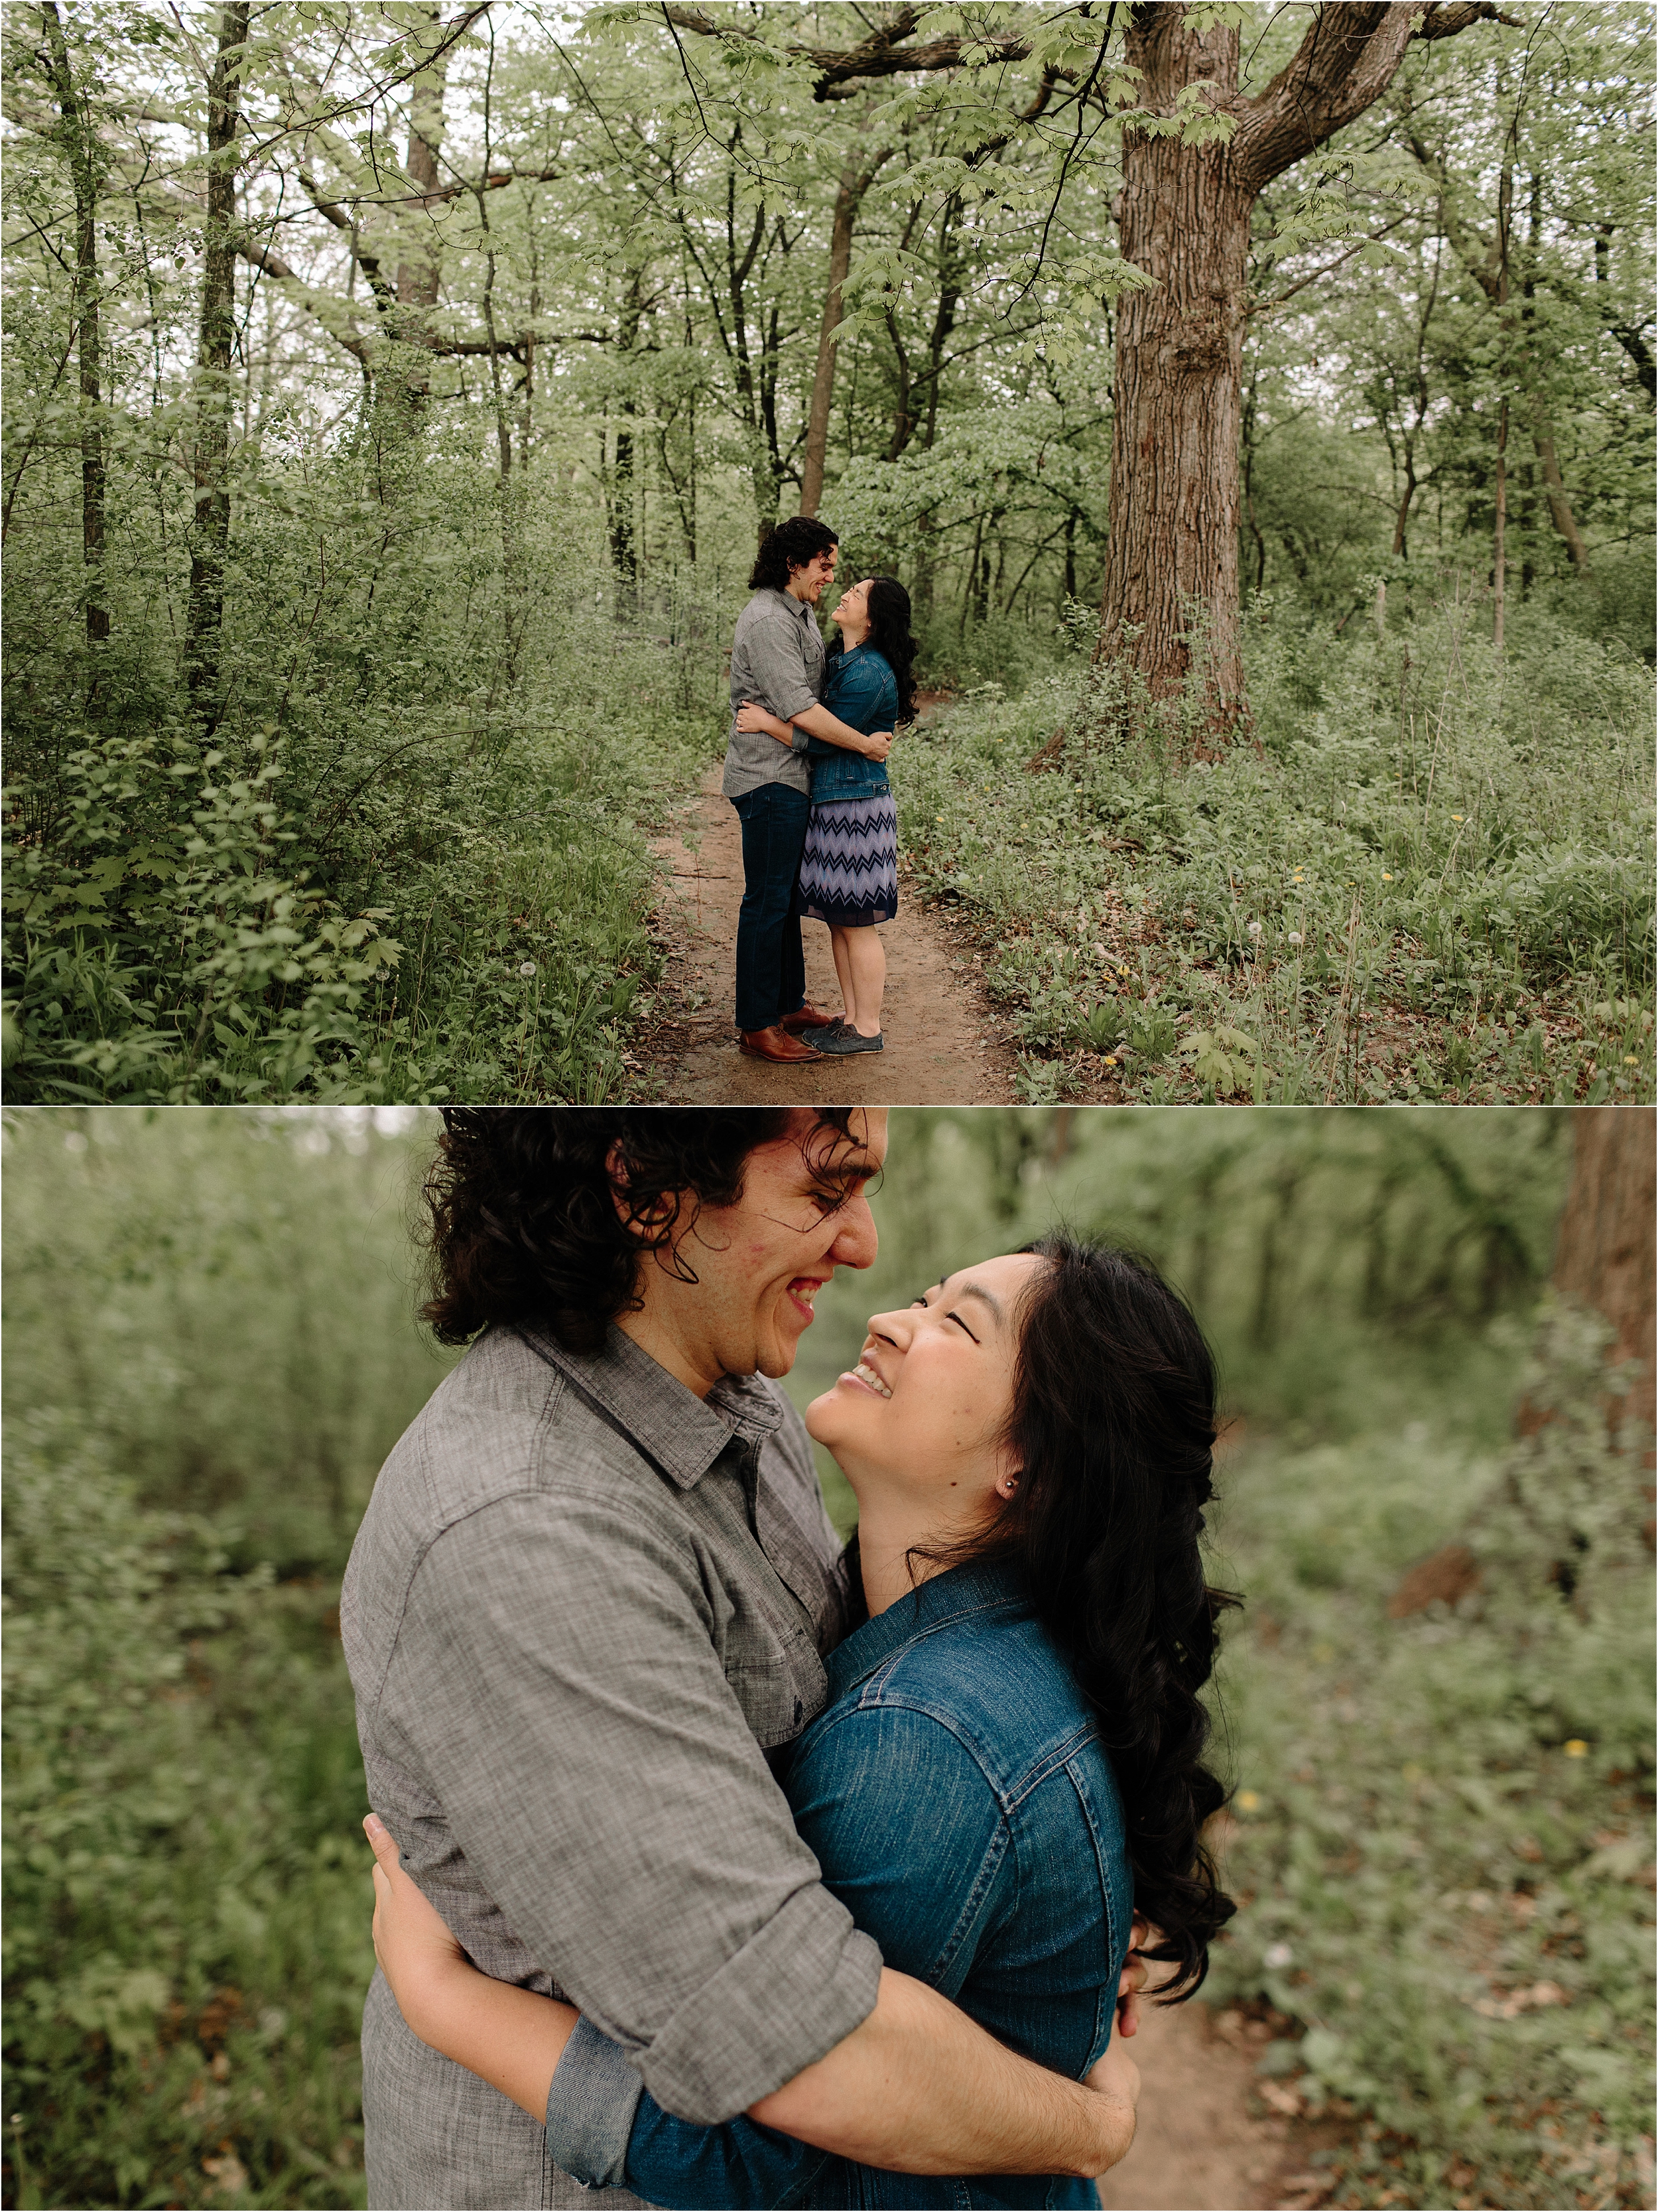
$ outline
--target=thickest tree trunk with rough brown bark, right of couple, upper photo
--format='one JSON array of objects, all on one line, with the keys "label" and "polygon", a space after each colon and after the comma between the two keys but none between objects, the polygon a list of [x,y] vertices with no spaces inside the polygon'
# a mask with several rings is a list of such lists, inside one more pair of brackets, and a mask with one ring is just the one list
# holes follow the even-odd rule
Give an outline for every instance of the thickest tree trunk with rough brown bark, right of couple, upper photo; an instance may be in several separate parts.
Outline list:
[{"label": "thickest tree trunk with rough brown bark, right of couple, upper photo", "polygon": [[[1178,4],[1136,7],[1123,60],[1138,97],[1167,111],[1185,86],[1238,91],[1238,31],[1194,31]],[[1203,626],[1211,719],[1242,712],[1238,661],[1238,440],[1249,208],[1231,148],[1145,131],[1123,139],[1123,254],[1156,290],[1116,319],[1112,504],[1101,653],[1141,672],[1154,699],[1192,670]]]}]

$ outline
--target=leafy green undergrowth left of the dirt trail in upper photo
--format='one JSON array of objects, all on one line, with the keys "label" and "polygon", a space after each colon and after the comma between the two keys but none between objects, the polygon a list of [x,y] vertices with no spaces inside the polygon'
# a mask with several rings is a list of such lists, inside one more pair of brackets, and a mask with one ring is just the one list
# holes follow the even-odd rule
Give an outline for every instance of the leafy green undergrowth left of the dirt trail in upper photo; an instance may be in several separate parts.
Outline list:
[{"label": "leafy green undergrowth left of the dirt trail in upper photo", "polygon": [[252,484],[210,699],[164,562],[84,646],[31,540],[7,1099],[626,1095],[659,969],[648,832],[716,743],[712,617],[670,577],[623,622],[590,529],[555,478],[491,489],[438,434]]}]

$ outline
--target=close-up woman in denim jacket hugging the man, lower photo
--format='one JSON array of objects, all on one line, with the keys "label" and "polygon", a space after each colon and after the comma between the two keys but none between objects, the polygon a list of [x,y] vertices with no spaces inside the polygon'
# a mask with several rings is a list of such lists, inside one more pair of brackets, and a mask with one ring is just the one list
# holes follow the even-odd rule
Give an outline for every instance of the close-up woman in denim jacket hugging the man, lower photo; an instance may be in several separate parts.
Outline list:
[{"label": "close-up woman in denim jacket hugging the man, lower photo", "polygon": [[[1225,1792],[1198,1692],[1236,1601],[1198,1553],[1214,1387],[1150,1265],[1054,1237],[875,1314],[807,1411],[858,1493],[869,1619],[776,1761],[796,1825],[889,1973],[1130,2106],[1112,2026],[1134,1936],[1156,1931],[1141,1955],[1176,2002],[1231,1913],[1203,1845]],[[619,2046],[480,1975],[369,1834],[376,1949],[413,2033],[537,2117],[555,2066],[592,2070],[606,2121],[577,2179],[688,2208],[1099,2203],[1074,2174],[860,2166],[767,2126],[769,2097],[705,2128],[641,2090],[621,2141]]]}]

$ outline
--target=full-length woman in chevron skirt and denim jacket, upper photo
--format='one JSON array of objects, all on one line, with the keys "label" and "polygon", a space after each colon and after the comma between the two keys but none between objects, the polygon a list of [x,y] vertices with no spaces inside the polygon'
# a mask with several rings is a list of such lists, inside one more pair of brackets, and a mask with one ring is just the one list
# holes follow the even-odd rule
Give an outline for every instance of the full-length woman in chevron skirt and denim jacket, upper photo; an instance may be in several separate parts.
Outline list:
[{"label": "full-length woman in chevron skirt and denim jacket, upper photo", "polygon": [[[915,717],[909,635],[909,593],[891,575],[871,575],[840,595],[833,611],[840,639],[829,646],[822,703],[864,737]],[[765,730],[783,745],[794,726],[760,706],[743,703],[738,730]],[[794,909],[829,925],[842,1015],[802,1037],[820,1053],[878,1053],[886,951],[875,925],[898,914],[898,807],[886,763],[825,743],[807,745],[811,814],[800,856]]]}]

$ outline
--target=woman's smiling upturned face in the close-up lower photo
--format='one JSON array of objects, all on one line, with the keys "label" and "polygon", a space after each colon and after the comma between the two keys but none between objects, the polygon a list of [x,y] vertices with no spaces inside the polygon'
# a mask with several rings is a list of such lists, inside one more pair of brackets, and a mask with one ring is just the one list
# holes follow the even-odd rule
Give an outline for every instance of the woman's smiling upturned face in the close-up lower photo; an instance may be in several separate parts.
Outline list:
[{"label": "woman's smiling upturned face in the close-up lower photo", "polygon": [[807,1407],[860,1504],[902,1493],[940,1522],[988,1513],[1017,1469],[1001,1447],[1032,1252],[962,1267],[915,1305],[871,1314],[858,1367]]}]

